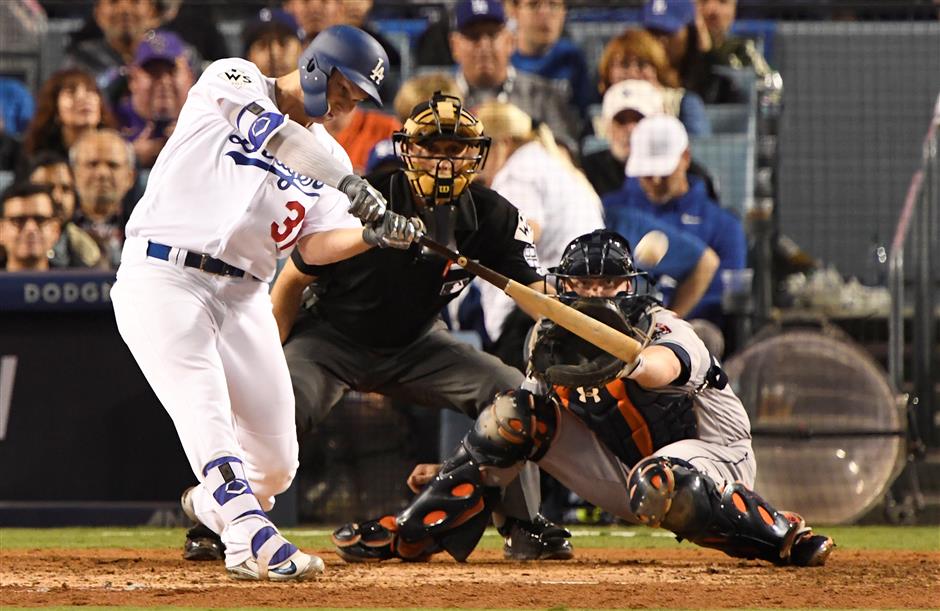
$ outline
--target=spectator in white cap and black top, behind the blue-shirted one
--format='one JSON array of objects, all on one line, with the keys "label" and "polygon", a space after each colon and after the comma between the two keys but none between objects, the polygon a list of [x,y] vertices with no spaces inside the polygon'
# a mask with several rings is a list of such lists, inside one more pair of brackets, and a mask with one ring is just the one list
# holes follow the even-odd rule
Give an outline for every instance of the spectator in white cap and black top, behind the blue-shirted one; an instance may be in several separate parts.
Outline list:
[{"label": "spectator in white cap and black top, behind the blue-shirted one", "polygon": [[[608,148],[585,155],[581,164],[598,195],[604,196],[623,186],[633,128],[644,117],[661,115],[663,112],[662,90],[649,81],[627,79],[607,89],[595,131],[607,139]],[[700,176],[705,181],[709,196],[718,201],[707,169],[692,160],[689,173]]]}]

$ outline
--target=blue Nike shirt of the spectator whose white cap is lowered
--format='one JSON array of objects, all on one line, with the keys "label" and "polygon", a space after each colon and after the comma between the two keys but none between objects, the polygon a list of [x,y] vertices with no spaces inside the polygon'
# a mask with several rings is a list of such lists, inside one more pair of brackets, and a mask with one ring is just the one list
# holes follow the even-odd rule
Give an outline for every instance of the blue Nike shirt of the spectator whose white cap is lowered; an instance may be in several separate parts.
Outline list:
[{"label": "blue Nike shirt of the spectator whose white cap is lowered", "polygon": [[[658,204],[650,201],[640,186],[639,179],[628,178],[619,191],[604,196],[604,214],[609,224],[610,219],[620,218],[624,208],[637,210],[652,215],[664,224],[685,231],[710,246],[721,260],[718,273],[712,279],[702,300],[687,318],[705,318],[721,325],[724,322],[721,311],[721,271],[745,267],[747,240],[741,221],[708,197],[704,181],[691,175],[688,181],[689,190],[683,195],[664,204]],[[670,240],[670,254],[672,250]]]}]

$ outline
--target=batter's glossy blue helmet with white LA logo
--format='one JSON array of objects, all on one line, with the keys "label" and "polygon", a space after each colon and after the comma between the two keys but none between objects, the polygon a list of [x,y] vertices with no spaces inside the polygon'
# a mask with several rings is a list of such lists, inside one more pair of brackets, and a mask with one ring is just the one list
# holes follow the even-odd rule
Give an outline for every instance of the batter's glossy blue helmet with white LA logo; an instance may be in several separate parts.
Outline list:
[{"label": "batter's glossy blue helmet with white LA logo", "polygon": [[304,111],[311,117],[322,117],[329,110],[326,82],[334,70],[382,105],[378,88],[389,69],[388,55],[375,38],[359,28],[334,25],[323,30],[304,49],[297,65]]}]

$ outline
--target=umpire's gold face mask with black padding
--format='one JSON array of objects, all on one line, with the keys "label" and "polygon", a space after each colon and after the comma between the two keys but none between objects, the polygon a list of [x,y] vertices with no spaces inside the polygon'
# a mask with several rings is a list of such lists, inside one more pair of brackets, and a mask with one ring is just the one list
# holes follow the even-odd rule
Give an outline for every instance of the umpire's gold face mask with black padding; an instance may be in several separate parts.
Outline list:
[{"label": "umpire's gold face mask with black padding", "polygon": [[[450,204],[460,197],[473,175],[483,168],[490,150],[483,124],[463,108],[460,98],[440,91],[411,111],[392,141],[415,192],[433,206]],[[428,150],[441,141],[463,148],[456,155]]]}]

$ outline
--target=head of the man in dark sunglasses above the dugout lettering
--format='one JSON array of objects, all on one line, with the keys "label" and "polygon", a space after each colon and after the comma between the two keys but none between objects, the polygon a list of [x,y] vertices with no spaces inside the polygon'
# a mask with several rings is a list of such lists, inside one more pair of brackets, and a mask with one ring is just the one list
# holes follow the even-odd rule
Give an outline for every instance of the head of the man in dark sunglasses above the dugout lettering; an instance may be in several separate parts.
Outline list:
[{"label": "head of the man in dark sunglasses above the dugout lettering", "polygon": [[59,217],[49,187],[17,183],[0,199],[0,246],[8,272],[49,269],[49,251],[59,239]]}]

